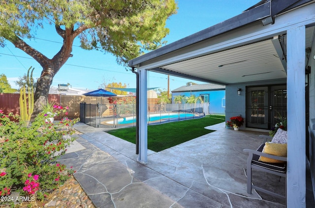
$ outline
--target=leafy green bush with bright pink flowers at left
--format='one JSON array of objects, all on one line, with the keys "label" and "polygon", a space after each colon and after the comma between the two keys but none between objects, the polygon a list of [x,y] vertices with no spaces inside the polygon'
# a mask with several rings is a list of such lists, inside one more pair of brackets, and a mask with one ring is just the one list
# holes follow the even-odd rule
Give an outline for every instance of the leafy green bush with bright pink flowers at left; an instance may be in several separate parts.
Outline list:
[{"label": "leafy green bush with bright pink flowers at left", "polygon": [[[67,108],[55,106],[55,113]],[[2,112],[1,112],[2,113]],[[19,115],[0,116],[0,195],[12,191],[43,199],[70,176],[71,170],[56,164],[58,157],[74,139],[71,126],[79,119],[45,122],[48,115],[39,113],[26,126]]]}]

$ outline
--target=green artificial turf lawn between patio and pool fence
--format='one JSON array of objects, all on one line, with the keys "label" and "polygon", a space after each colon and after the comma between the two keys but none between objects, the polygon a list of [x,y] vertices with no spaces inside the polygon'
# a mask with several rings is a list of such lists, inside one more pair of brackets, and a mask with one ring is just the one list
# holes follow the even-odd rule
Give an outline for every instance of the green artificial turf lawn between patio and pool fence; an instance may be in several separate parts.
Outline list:
[{"label": "green artificial turf lawn between patio and pool fence", "polygon": [[[189,119],[148,126],[148,149],[161,151],[183,142],[213,132],[204,127],[224,122],[224,116],[208,115],[201,119]],[[136,143],[136,127],[121,128],[107,133]]]}]

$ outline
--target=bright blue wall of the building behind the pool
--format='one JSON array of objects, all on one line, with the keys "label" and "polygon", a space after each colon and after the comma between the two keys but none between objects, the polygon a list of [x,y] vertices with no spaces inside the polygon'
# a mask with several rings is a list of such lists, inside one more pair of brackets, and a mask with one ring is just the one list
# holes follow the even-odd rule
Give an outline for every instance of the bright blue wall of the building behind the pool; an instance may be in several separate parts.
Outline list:
[{"label": "bright blue wall of the building behind the pool", "polygon": [[[195,95],[197,97],[200,94],[209,94],[209,114],[225,114],[225,90],[212,90],[212,91],[190,91],[187,92],[172,92],[172,103],[174,102],[174,97],[177,95],[184,95],[189,97],[190,95]],[[223,106],[222,106],[223,102]]]}]

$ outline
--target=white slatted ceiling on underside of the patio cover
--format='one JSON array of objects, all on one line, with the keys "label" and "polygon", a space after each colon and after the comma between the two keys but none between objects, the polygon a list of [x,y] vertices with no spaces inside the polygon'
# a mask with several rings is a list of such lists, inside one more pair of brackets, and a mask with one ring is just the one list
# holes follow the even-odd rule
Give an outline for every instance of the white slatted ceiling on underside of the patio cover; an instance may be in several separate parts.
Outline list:
[{"label": "white slatted ceiling on underside of the patio cover", "polygon": [[[315,27],[307,28],[306,48],[312,46],[314,32]],[[268,39],[158,68],[221,84],[286,78],[285,34],[281,41]]]}]

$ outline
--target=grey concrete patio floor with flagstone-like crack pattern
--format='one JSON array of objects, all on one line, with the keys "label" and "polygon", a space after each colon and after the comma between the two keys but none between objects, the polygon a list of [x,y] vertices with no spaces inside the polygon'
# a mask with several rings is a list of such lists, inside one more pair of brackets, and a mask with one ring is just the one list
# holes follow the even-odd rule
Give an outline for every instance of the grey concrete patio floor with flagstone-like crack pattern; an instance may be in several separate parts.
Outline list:
[{"label": "grey concrete patio floor with flagstone-like crack pattern", "polygon": [[[256,149],[266,132],[216,130],[137,162],[135,145],[84,123],[74,128],[81,148],[63,155],[97,208],[284,208],[285,201],[247,193],[243,149]],[[285,179],[253,171],[253,183],[280,194]]]}]

